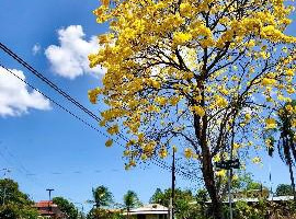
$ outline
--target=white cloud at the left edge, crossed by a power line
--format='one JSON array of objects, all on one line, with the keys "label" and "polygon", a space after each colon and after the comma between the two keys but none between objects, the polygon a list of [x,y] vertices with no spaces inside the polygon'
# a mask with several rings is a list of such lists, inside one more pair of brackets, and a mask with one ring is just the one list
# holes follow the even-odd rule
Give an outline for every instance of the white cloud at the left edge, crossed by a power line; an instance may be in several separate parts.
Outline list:
[{"label": "white cloud at the left edge, crossed by a power line", "polygon": [[[22,71],[11,71],[25,80]],[[24,82],[0,67],[0,116],[21,116],[29,108],[50,110],[50,103],[37,91],[30,92]]]}]

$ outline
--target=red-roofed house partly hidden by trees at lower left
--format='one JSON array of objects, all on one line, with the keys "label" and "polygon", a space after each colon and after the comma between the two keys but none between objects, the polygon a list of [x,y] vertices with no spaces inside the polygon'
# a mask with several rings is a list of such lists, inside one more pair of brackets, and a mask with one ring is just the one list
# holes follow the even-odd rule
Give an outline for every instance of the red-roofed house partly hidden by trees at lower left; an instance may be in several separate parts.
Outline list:
[{"label": "red-roofed house partly hidden by trees at lower left", "polygon": [[41,200],[35,203],[34,207],[38,210],[38,215],[43,218],[50,219],[66,219],[67,215],[64,214],[56,204],[52,200]]}]

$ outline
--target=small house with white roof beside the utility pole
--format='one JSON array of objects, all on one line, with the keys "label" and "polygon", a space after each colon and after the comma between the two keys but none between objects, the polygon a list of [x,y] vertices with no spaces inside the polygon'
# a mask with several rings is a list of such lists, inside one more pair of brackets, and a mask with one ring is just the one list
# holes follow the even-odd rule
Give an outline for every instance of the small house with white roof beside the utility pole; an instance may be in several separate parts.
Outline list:
[{"label": "small house with white roof beside the utility pole", "polygon": [[169,219],[169,208],[159,204],[149,204],[123,214],[128,219]]}]

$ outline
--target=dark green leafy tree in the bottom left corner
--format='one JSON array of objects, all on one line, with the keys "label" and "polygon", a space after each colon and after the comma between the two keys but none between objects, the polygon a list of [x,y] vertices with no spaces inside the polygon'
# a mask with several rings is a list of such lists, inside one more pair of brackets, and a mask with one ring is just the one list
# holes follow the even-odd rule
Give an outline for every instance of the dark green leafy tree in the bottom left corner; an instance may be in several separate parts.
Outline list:
[{"label": "dark green leafy tree in the bottom left corner", "polygon": [[36,219],[37,210],[29,196],[19,189],[12,180],[0,180],[0,218],[1,219]]}]

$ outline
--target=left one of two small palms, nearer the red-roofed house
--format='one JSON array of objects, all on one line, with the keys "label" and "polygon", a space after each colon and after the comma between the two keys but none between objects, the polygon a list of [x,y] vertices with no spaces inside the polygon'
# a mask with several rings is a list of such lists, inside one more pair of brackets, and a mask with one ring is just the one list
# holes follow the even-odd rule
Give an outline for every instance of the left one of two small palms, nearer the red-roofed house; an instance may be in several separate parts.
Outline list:
[{"label": "left one of two small palms, nearer the red-roofed house", "polygon": [[92,197],[95,208],[107,207],[113,203],[113,195],[107,187],[101,185],[92,188]]}]

